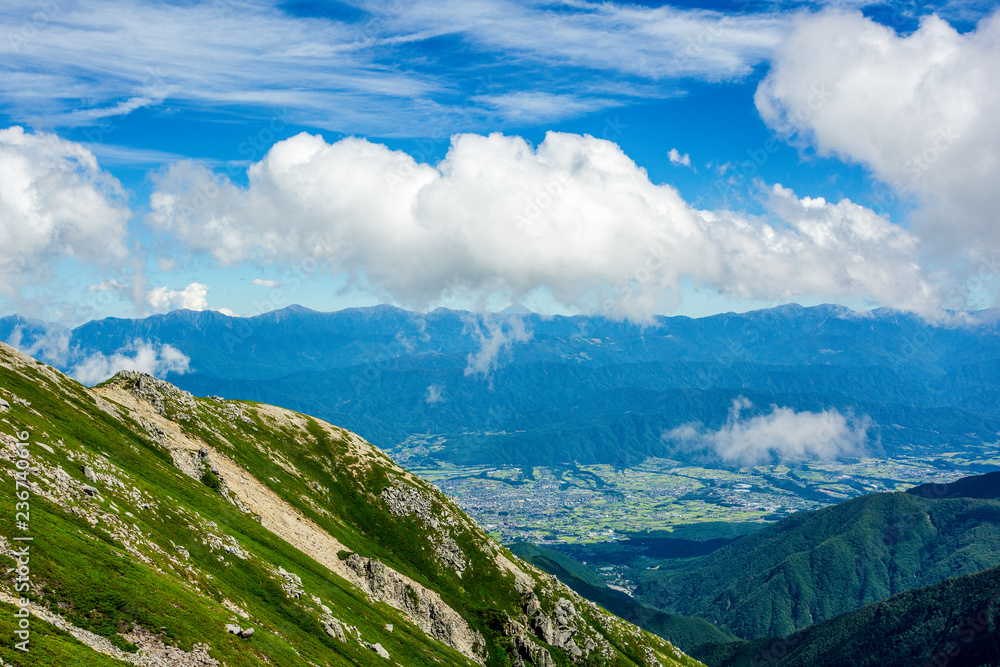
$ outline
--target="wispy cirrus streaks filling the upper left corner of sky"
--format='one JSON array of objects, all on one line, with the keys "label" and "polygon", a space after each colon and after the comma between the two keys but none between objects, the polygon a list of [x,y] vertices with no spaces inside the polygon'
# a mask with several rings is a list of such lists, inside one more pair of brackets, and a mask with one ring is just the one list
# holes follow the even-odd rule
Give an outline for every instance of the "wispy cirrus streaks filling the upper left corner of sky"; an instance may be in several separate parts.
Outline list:
[{"label": "wispy cirrus streaks filling the upper left corner of sky", "polygon": [[[36,11],[35,2],[4,3],[0,34],[18,37]],[[367,109],[365,129],[374,129],[378,112],[440,87],[381,64],[350,24],[294,17],[254,0],[57,4],[30,38],[0,40],[0,56],[5,103],[64,127],[166,99],[222,111],[288,107],[300,122],[320,126]]]}]

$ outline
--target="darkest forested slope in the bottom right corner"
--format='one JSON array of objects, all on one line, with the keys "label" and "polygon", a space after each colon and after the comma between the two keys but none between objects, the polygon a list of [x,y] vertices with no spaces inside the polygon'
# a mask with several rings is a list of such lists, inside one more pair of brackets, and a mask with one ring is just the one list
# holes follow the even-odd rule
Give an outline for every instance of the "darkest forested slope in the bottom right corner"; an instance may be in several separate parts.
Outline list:
[{"label": "darkest forested slope in the bottom right corner", "polygon": [[703,646],[711,667],[1000,665],[1000,568],[948,579],[784,639]]}]

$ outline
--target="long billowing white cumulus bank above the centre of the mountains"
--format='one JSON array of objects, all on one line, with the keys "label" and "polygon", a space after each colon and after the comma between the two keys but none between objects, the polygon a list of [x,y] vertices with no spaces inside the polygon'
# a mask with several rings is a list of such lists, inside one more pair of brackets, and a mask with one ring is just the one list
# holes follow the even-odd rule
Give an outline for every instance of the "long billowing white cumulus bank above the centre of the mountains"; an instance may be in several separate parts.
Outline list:
[{"label": "long billowing white cumulus bank above the centre of the mountains", "polygon": [[456,135],[437,165],[364,139],[300,134],[240,187],[174,165],[150,224],[221,264],[314,261],[380,297],[520,302],[536,290],[579,310],[645,317],[679,282],[746,298],[866,298],[934,311],[916,239],[848,200],[774,186],[770,221],[699,211],[614,143],[549,133]]}]

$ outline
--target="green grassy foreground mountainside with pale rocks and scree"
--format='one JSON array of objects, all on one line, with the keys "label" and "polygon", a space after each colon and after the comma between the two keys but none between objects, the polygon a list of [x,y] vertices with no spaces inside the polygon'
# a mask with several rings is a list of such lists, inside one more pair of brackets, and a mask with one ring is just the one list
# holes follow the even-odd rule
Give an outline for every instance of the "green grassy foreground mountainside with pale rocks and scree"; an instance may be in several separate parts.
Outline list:
[{"label": "green grassy foreground mountainside with pale rocks and scree", "polygon": [[5,636],[33,537],[8,664],[697,664],[325,422],[136,373],[90,390],[5,345],[0,399]]}]

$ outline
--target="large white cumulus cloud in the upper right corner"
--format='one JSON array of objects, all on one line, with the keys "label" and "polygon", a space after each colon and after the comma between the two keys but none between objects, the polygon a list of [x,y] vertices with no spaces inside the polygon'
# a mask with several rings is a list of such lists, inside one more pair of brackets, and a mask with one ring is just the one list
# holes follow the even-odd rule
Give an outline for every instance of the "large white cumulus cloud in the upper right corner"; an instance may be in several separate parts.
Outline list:
[{"label": "large white cumulus cloud in the upper right corner", "polygon": [[886,204],[916,197],[927,247],[976,266],[1000,246],[997,63],[1000,11],[965,34],[928,16],[906,36],[827,11],[798,21],[755,99],[772,127],[870,168]]}]

